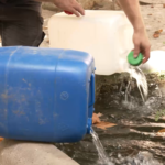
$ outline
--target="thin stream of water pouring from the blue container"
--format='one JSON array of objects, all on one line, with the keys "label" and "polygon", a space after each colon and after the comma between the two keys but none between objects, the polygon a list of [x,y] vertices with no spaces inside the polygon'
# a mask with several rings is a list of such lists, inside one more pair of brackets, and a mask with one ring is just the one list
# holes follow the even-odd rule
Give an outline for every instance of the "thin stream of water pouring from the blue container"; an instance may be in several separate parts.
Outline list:
[{"label": "thin stream of water pouring from the blue container", "polygon": [[96,145],[96,148],[98,151],[98,154],[99,154],[99,160],[100,160],[100,163],[101,165],[113,165],[113,163],[111,163],[106,154],[106,151],[98,138],[98,134],[94,131],[94,129],[91,129],[91,136],[92,136],[92,141],[94,141],[94,144]]}]

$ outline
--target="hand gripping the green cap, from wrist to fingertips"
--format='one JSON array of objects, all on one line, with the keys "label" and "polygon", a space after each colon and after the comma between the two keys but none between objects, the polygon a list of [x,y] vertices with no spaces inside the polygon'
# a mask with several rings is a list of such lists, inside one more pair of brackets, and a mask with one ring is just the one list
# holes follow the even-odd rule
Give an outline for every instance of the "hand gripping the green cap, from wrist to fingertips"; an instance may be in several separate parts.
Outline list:
[{"label": "hand gripping the green cap, from wrist to fingertips", "polygon": [[133,43],[134,57],[142,53],[144,55],[143,64],[146,63],[150,58],[151,44],[144,29],[134,31]]}]

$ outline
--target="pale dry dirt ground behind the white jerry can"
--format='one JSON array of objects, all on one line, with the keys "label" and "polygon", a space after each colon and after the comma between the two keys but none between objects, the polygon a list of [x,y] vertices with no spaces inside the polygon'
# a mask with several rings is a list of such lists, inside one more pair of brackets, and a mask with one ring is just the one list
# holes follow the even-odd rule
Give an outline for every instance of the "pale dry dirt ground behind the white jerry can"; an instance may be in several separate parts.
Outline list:
[{"label": "pale dry dirt ground behind the white jerry can", "polygon": [[[165,7],[163,4],[141,6],[143,19],[146,25],[146,31],[152,44],[152,50],[165,51]],[[50,16],[55,14],[53,11],[43,10],[44,26],[47,28]],[[163,30],[158,38],[154,38],[155,31]],[[45,30],[47,34],[47,30]],[[48,37],[45,37],[41,47],[48,47]]]}]

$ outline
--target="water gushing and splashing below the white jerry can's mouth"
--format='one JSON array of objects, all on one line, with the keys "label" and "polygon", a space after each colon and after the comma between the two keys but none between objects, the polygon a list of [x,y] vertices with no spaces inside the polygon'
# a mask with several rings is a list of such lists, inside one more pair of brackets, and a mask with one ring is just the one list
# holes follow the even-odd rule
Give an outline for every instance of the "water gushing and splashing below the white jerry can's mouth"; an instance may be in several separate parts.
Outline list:
[{"label": "water gushing and splashing below the white jerry can's mouth", "polygon": [[[122,100],[123,107],[130,110],[143,110],[143,112],[146,112],[146,113],[154,111],[156,107],[160,107],[162,98],[163,98],[160,86],[156,84],[147,85],[146,77],[139,67],[129,66],[129,73],[130,73],[130,81],[128,82],[125,92],[123,92],[125,97],[124,100]],[[131,90],[132,90],[131,88],[133,87],[132,86],[133,78],[136,80],[136,85],[138,85],[142,99],[141,98],[139,99],[135,96],[131,95]],[[148,97],[148,86],[152,88],[155,86],[154,92],[156,97]],[[122,86],[120,88],[120,92],[121,90],[122,90]],[[152,91],[152,95],[153,95],[153,91]]]}]

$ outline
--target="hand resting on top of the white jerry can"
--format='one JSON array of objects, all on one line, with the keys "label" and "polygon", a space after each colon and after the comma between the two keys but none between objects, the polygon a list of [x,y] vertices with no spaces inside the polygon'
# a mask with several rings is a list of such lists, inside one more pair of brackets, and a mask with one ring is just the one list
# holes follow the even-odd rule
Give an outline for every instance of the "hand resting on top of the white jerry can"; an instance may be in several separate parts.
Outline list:
[{"label": "hand resting on top of the white jerry can", "polygon": [[76,0],[53,0],[55,6],[64,11],[68,11],[76,16],[85,15],[85,10]]}]

